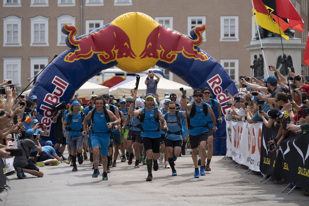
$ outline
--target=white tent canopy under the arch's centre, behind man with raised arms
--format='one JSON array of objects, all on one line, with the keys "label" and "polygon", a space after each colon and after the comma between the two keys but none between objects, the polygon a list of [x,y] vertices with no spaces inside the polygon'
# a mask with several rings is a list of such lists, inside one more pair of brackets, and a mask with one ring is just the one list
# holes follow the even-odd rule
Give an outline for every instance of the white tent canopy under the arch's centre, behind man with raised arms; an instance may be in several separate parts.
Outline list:
[{"label": "white tent canopy under the arch's centre, behind man with raised arms", "polygon": [[[138,96],[140,95],[146,95],[146,85],[145,80],[147,78],[147,75],[141,77],[138,85]],[[109,94],[114,95],[115,99],[119,99],[122,97],[122,95],[130,95],[131,89],[135,87],[136,79],[134,79],[131,82],[126,82],[120,86],[117,86],[115,88],[112,88],[109,90]],[[163,77],[160,77],[160,81],[157,84],[157,93],[159,95],[159,99],[163,99],[164,94],[168,92],[169,94],[175,93],[177,97],[181,95],[181,91],[179,88],[183,87],[184,90],[187,90],[187,96],[193,94],[193,89],[190,86],[186,86],[177,82],[173,82],[171,80],[165,79]]]}]

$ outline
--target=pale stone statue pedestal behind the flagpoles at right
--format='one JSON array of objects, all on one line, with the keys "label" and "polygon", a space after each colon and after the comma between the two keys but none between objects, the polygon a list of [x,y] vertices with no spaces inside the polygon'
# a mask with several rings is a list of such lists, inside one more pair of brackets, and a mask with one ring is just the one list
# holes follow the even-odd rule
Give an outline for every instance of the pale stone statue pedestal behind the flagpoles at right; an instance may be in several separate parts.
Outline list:
[{"label": "pale stone statue pedestal behind the flagpoles at right", "polygon": [[[278,57],[283,57],[281,39],[280,37],[268,37],[263,38],[262,45],[264,49],[266,65],[277,65]],[[303,57],[301,55],[301,49],[306,47],[306,43],[302,43],[299,38],[290,38],[289,41],[282,38],[282,44],[284,49],[284,54],[286,57],[289,55],[292,57],[293,67],[295,69],[296,74],[301,75],[302,70],[302,62]],[[251,51],[250,62],[253,65],[254,55],[259,57],[259,54],[262,54],[260,40],[252,40],[250,45],[245,45],[247,50]],[[265,66],[264,66],[265,67]],[[249,66],[248,66],[249,68]],[[277,68],[278,70],[281,68],[281,65]],[[266,69],[264,68],[264,77],[267,77]],[[274,75],[273,71],[269,71],[268,74]]]}]

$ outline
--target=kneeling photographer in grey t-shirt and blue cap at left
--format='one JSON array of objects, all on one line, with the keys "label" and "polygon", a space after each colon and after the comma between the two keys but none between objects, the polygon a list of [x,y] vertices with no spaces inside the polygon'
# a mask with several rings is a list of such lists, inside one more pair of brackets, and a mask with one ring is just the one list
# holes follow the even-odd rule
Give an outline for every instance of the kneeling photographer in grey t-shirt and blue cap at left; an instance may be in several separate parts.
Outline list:
[{"label": "kneeling photographer in grey t-shirt and blue cap at left", "polygon": [[39,168],[37,168],[32,162],[29,162],[32,149],[35,149],[38,152],[42,152],[42,148],[39,142],[40,135],[37,135],[35,139],[33,135],[33,130],[28,129],[25,133],[25,138],[19,140],[17,143],[17,148],[22,149],[22,155],[15,156],[13,161],[13,166],[16,169],[18,179],[24,179],[27,177],[24,172],[35,175],[37,177],[43,177],[44,175],[44,173]]}]

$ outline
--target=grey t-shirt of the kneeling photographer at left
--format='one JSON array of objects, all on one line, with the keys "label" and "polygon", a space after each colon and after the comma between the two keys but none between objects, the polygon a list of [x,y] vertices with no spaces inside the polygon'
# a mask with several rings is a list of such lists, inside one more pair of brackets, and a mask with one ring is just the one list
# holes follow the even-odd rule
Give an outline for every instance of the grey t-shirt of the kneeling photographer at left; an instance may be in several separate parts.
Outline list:
[{"label": "grey t-shirt of the kneeling photographer at left", "polygon": [[[23,147],[21,144],[23,145]],[[36,149],[37,145],[30,139],[22,139],[18,141],[17,148],[22,149],[22,155],[15,156],[14,161],[13,161],[13,166],[14,168],[25,167],[28,165],[28,160],[29,160],[32,149]],[[23,148],[25,148],[26,151]]]}]

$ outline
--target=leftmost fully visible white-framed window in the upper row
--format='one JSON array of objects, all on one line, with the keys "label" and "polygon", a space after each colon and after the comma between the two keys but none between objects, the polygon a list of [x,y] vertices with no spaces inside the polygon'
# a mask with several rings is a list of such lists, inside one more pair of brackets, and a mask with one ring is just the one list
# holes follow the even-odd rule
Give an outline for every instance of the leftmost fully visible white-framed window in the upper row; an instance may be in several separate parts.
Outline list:
[{"label": "leftmost fully visible white-framed window in the upper row", "polygon": [[21,20],[18,16],[11,15],[3,18],[3,46],[21,46]]}]

